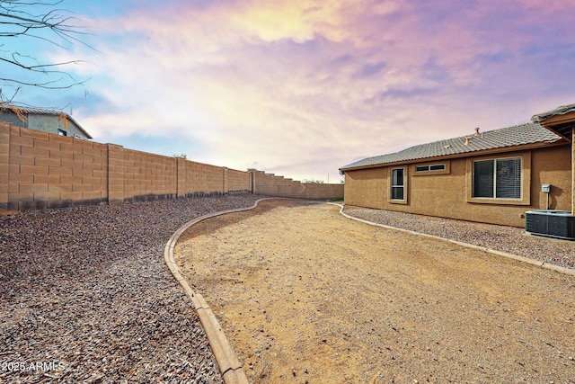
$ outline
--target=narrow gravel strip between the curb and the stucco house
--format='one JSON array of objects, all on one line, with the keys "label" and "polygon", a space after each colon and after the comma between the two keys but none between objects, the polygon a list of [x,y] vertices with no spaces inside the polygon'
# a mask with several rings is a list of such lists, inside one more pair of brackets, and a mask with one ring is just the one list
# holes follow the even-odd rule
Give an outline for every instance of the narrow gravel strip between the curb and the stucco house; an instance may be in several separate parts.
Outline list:
[{"label": "narrow gravel strip between the curb and the stucco house", "polygon": [[500,252],[575,269],[575,242],[530,236],[526,234],[524,228],[352,206],[346,206],[343,212],[354,218],[377,224],[444,237],[474,246],[485,246]]}]

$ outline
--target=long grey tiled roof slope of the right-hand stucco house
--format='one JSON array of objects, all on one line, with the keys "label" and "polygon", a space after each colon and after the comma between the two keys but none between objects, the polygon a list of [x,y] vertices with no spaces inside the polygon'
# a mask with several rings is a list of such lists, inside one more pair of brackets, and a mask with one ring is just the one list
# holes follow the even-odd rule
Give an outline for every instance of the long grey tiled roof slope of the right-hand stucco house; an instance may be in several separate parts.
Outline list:
[{"label": "long grey tiled roof slope of the right-hand stucco house", "polygon": [[[465,141],[469,138],[469,144]],[[341,171],[387,165],[394,163],[407,163],[413,160],[424,160],[433,157],[458,156],[467,153],[481,152],[506,147],[517,147],[532,144],[554,143],[562,138],[542,125],[526,123],[512,127],[488,130],[480,134],[466,135],[459,138],[447,138],[428,144],[409,147],[402,151],[367,157],[355,163],[342,166]]]}]

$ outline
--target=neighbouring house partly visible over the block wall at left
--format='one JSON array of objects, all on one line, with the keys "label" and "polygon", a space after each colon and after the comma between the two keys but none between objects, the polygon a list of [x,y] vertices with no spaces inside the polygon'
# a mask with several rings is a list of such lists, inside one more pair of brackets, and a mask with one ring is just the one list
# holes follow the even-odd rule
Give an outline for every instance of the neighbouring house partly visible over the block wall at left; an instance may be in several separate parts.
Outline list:
[{"label": "neighbouring house partly visible over the block wall at left", "polygon": [[0,121],[7,121],[16,127],[36,129],[71,138],[92,138],[72,116],[65,112],[25,108],[18,108],[18,111],[21,116],[9,107],[0,108]]}]

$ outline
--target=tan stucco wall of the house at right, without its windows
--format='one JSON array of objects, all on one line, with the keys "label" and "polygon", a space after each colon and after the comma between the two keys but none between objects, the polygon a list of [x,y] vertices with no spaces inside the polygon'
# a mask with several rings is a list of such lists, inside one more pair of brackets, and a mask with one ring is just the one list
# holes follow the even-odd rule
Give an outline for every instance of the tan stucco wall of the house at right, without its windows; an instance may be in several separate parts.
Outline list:
[{"label": "tan stucco wall of the house at right, without its windows", "polygon": [[[415,174],[417,163],[405,166],[408,177],[405,203],[389,200],[390,167],[346,172],[345,203],[382,210],[398,210],[450,219],[525,226],[525,211],[545,208],[541,183],[551,183],[550,208],[571,210],[571,146],[548,147],[512,154],[483,156],[522,156],[524,159],[524,199],[522,201],[486,201],[469,199],[471,188],[470,159],[448,161],[448,173]],[[473,157],[482,158],[482,157]],[[438,162],[434,162],[438,163]],[[483,201],[487,202],[484,203]]]}]

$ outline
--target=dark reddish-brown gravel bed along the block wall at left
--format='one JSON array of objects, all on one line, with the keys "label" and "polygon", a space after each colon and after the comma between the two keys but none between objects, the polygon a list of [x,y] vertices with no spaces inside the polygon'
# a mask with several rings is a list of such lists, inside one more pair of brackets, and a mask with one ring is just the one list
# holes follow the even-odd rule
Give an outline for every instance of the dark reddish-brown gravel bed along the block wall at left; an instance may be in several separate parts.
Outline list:
[{"label": "dark reddish-brown gravel bed along the block wall at left", "polygon": [[0,218],[0,382],[222,382],[164,245],[239,195]]}]

